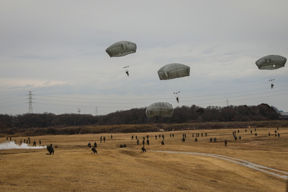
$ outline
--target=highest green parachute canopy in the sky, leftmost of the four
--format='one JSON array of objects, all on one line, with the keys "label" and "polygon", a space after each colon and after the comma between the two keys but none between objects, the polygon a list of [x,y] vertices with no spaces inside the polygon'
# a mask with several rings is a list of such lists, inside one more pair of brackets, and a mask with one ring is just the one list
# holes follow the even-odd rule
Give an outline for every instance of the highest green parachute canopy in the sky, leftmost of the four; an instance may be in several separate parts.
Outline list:
[{"label": "highest green parachute canopy in the sky, leftmost of the four", "polygon": [[110,45],[106,52],[110,57],[122,57],[136,52],[136,44],[130,41],[118,41]]}]

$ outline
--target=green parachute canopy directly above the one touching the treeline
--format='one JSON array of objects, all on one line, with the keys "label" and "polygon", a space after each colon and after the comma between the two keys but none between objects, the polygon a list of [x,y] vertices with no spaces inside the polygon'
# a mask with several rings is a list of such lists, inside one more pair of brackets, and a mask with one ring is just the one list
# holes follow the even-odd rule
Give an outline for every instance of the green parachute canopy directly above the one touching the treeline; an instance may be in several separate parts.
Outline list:
[{"label": "green parachute canopy directly above the one touching the treeline", "polygon": [[190,75],[190,67],[180,63],[170,63],[158,70],[160,80],[175,79]]}]

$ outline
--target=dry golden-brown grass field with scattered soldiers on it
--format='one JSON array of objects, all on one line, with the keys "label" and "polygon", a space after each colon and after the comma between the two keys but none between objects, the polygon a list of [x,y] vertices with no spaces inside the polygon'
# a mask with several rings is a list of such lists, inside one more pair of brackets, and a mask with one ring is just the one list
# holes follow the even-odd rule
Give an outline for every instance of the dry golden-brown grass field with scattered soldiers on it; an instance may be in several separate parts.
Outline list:
[{"label": "dry golden-brown grass field with scattered soldiers on it", "polygon": [[[247,128],[247,133],[240,129],[236,136],[241,135],[241,141],[234,140],[234,129],[113,134],[112,139],[108,133],[31,137],[31,145],[41,139],[41,145],[52,143],[58,148],[54,148],[54,155],[46,155],[47,149],[0,150],[0,190],[283,192],[288,176],[288,128],[279,128],[280,138],[273,135],[275,129],[257,128],[257,136],[254,128],[253,134],[251,129]],[[200,133],[198,142],[194,141],[196,132]],[[187,135],[185,142],[181,142],[183,133]],[[147,152],[142,153],[142,137],[147,134],[150,145],[145,142]],[[161,145],[162,137],[155,140],[159,134],[164,134],[165,145]],[[100,136],[106,137],[105,143],[100,143]],[[209,142],[211,137],[217,142]],[[24,137],[14,139],[19,144]],[[91,154],[87,144],[95,141],[98,153]],[[6,138],[0,138],[3,142]],[[124,143],[127,147],[119,148]],[[264,167],[257,170],[243,161]]]}]

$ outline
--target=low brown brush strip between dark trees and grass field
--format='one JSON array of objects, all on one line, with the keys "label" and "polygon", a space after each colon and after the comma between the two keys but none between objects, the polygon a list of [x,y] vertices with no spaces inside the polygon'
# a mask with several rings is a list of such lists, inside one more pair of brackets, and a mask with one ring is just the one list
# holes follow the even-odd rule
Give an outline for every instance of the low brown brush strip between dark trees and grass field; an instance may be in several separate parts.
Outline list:
[{"label": "low brown brush strip between dark trees and grass field", "polygon": [[[0,137],[28,137],[28,136],[43,136],[43,135],[75,135],[75,134],[103,134],[108,136],[114,133],[138,133],[138,136],[143,132],[159,132],[165,134],[164,131],[185,131],[185,130],[211,130],[211,129],[247,129],[254,128],[283,128],[288,127],[288,121],[242,121],[242,122],[204,122],[204,123],[155,123],[141,125],[91,125],[91,126],[73,126],[64,128],[10,128],[0,129]],[[198,132],[198,131],[196,131]],[[105,135],[106,134],[106,135]],[[137,135],[137,134],[136,134]],[[151,135],[150,135],[151,136]],[[152,135],[154,136],[154,134]]]}]

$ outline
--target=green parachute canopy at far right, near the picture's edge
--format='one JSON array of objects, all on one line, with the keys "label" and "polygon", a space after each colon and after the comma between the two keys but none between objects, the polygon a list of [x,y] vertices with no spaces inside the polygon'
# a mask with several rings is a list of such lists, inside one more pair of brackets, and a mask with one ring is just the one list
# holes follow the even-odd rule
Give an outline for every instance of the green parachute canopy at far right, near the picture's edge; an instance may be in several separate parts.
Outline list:
[{"label": "green parachute canopy at far right, near the picture's edge", "polygon": [[258,59],[255,63],[259,69],[279,69],[285,66],[287,58],[280,55],[267,55]]}]

